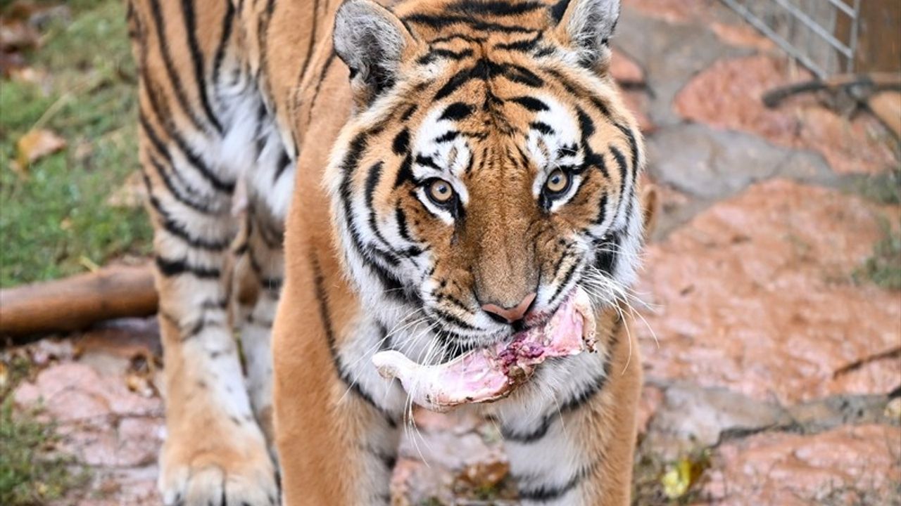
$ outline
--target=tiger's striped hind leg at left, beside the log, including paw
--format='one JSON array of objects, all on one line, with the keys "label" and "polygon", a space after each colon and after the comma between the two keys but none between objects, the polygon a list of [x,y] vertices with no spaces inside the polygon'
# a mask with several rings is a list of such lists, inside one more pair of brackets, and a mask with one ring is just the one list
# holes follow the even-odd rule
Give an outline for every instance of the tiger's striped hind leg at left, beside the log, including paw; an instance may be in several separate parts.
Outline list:
[{"label": "tiger's striped hind leg at left, beside the log, including paw", "polygon": [[[159,138],[150,121],[142,128],[145,140]],[[203,199],[181,190],[191,167],[177,165],[174,150],[160,141],[141,152],[166,365],[159,490],[167,505],[274,505],[275,468],[251,411],[229,315],[231,195],[213,185]]]}]

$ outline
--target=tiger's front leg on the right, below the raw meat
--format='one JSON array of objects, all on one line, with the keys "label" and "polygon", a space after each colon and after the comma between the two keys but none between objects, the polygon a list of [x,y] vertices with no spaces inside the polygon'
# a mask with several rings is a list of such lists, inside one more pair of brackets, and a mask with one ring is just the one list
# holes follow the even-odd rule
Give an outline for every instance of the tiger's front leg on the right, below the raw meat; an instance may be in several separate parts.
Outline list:
[{"label": "tiger's front leg on the right, below the raw meat", "polygon": [[622,321],[602,320],[598,353],[544,363],[491,408],[523,505],[629,504],[641,361]]}]

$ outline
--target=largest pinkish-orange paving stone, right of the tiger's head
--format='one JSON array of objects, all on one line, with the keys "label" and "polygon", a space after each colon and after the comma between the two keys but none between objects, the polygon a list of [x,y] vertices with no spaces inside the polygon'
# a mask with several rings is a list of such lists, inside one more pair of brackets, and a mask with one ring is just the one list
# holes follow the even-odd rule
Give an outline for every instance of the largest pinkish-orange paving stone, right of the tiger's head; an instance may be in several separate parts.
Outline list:
[{"label": "largest pinkish-orange paving stone, right of the tiger's head", "polygon": [[714,205],[648,249],[639,292],[646,374],[793,403],[887,393],[897,360],[833,379],[898,345],[901,293],[852,278],[898,208],[774,180]]}]

